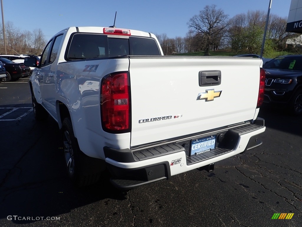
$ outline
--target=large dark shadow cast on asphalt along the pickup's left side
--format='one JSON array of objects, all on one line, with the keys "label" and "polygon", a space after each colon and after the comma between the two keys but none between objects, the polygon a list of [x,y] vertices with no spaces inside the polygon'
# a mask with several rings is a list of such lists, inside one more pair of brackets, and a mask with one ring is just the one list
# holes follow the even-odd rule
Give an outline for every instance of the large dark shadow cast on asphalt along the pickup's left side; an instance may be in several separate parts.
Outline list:
[{"label": "large dark shadow cast on asphalt along the pickup's left side", "polygon": [[[103,199],[126,198],[126,192],[109,183],[108,173],[97,184],[83,189],[70,182],[59,128],[51,117],[37,122],[29,113],[21,120],[1,121],[0,132],[0,219],[13,215],[55,217]],[[11,221],[24,224],[37,220]]]}]

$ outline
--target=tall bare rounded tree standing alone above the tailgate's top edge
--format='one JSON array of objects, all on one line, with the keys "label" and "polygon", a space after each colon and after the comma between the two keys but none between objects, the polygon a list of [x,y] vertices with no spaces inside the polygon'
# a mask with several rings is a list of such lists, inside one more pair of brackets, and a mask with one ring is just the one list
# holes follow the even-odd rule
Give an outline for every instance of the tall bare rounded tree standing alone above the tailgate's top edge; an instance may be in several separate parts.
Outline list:
[{"label": "tall bare rounded tree standing alone above the tailgate's top edge", "polygon": [[210,47],[222,37],[228,24],[228,15],[216,5],[206,5],[199,15],[194,15],[187,23],[195,35],[202,35],[206,56],[210,55]]}]

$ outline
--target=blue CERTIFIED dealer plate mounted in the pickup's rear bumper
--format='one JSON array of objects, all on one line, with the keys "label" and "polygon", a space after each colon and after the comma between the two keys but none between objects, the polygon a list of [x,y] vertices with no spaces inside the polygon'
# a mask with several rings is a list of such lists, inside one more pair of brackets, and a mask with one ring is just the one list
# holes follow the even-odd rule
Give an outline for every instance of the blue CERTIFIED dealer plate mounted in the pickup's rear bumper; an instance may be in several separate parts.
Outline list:
[{"label": "blue CERTIFIED dealer plate mounted in the pickup's rear bumper", "polygon": [[206,153],[215,148],[216,136],[191,140],[191,155]]}]

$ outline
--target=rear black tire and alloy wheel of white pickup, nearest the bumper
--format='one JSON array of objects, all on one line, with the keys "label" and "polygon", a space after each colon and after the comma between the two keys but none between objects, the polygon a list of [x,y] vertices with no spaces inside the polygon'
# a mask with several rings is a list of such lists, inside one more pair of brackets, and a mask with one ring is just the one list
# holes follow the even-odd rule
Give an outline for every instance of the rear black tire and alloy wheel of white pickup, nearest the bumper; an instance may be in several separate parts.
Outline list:
[{"label": "rear black tire and alloy wheel of white pickup, nearest the bumper", "polygon": [[93,168],[95,159],[86,156],[80,150],[69,117],[63,120],[62,137],[66,168],[70,179],[79,187],[96,183],[100,179],[101,171],[95,171]]}]

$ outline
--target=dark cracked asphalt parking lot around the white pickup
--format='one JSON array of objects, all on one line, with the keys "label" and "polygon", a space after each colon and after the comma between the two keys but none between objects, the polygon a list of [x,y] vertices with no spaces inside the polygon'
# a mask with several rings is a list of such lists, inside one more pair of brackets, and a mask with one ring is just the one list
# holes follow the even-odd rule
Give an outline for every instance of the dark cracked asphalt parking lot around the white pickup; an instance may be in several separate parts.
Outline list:
[{"label": "dark cracked asphalt parking lot around the white pickup", "polygon": [[[0,116],[31,107],[28,79],[0,83]],[[20,108],[1,119],[16,119]],[[0,121],[0,226],[302,226],[302,117],[261,107],[263,144],[215,163],[119,192],[108,174],[75,188],[64,170],[59,129],[50,117]],[[294,213],[272,220],[274,213]],[[47,220],[47,219],[50,220]]]}]

